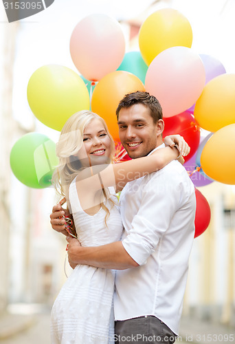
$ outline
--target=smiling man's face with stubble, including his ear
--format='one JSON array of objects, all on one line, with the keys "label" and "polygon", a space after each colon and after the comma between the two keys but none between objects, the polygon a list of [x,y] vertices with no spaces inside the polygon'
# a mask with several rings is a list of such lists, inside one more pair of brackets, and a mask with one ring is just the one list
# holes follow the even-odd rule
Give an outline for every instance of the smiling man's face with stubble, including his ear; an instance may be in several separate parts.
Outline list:
[{"label": "smiling man's face with stubble, including his ear", "polygon": [[150,109],[142,104],[122,108],[117,124],[122,145],[132,159],[148,155],[162,143],[164,121],[154,124]]}]

